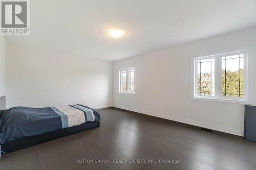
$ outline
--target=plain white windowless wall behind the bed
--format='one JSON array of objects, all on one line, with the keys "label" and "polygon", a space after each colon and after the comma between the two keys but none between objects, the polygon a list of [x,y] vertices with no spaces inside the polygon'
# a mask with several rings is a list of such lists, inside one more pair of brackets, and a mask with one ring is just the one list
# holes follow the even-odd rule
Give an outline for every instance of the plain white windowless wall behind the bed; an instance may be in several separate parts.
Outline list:
[{"label": "plain white windowless wall behind the bed", "polygon": [[113,63],[7,44],[7,108],[112,104]]}]

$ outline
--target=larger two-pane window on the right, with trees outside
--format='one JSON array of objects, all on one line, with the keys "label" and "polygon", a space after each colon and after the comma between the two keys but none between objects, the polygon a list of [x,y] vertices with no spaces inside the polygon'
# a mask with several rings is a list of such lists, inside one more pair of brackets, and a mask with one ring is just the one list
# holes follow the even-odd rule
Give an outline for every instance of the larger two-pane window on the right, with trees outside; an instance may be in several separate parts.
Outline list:
[{"label": "larger two-pane window on the right, with trees outside", "polygon": [[251,103],[248,51],[193,58],[193,99]]}]

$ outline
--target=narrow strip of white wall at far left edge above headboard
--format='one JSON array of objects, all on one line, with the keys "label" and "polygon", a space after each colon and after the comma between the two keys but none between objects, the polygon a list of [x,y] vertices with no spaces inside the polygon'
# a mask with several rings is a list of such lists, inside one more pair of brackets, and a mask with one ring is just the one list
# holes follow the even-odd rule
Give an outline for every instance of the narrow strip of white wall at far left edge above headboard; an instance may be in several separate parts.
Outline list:
[{"label": "narrow strip of white wall at far left edge above headboard", "polygon": [[6,43],[4,36],[0,36],[0,97],[5,95],[6,84]]}]

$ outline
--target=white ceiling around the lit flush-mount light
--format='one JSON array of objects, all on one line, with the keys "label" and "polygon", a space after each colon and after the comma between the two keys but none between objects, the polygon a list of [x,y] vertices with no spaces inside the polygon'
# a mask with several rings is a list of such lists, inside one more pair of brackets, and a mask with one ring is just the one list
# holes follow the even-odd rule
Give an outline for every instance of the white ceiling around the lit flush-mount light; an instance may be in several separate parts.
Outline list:
[{"label": "white ceiling around the lit flush-mount light", "polygon": [[30,18],[30,36],[6,41],[116,61],[254,26],[256,0],[31,0]]}]

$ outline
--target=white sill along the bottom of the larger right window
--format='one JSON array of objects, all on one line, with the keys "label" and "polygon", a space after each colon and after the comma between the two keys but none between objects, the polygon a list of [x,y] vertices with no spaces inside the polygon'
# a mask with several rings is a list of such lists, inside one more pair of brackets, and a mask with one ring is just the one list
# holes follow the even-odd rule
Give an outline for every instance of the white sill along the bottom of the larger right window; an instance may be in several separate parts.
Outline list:
[{"label": "white sill along the bottom of the larger right window", "polygon": [[193,97],[191,100],[194,101],[205,101],[205,102],[222,102],[222,103],[234,103],[234,104],[246,104],[252,105],[252,102],[246,100],[237,100],[237,99],[217,99],[217,98],[200,98],[200,97]]}]

